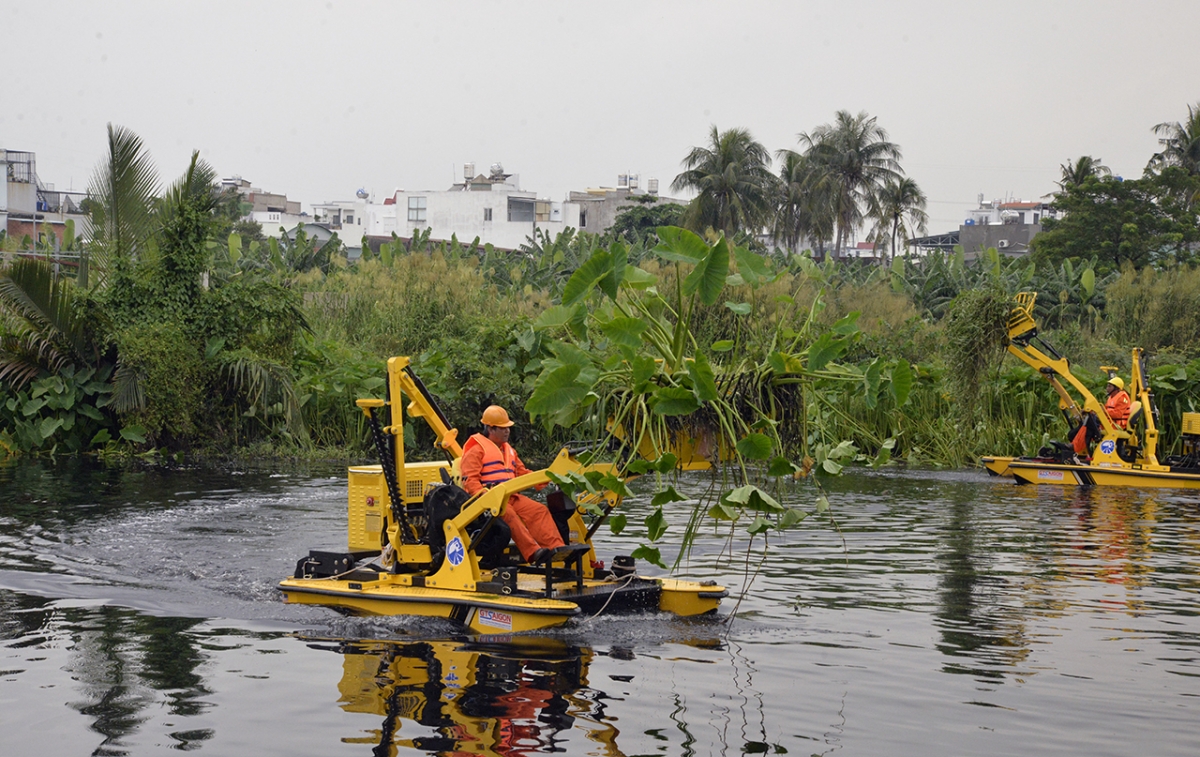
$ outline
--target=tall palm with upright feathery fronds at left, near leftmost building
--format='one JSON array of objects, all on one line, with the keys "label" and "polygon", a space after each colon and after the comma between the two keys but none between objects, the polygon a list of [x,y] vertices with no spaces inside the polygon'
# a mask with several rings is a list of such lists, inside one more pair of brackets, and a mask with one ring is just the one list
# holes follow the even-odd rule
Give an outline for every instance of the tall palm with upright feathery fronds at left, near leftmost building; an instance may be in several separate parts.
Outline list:
[{"label": "tall palm with upright feathery fronds at left, near leftmost building", "polygon": [[127,128],[108,125],[108,156],[96,167],[88,197],[91,215],[89,269],[94,284],[124,270],[150,245],[158,178],[142,139]]}]

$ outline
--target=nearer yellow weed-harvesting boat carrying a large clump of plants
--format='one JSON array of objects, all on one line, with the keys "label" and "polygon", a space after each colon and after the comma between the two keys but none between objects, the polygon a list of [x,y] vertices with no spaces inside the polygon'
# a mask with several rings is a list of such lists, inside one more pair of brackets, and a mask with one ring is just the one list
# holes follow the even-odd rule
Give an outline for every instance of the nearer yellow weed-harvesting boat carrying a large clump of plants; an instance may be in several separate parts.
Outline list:
[{"label": "nearer yellow weed-harvesting boat carrying a large clump of plants", "polygon": [[[433,429],[448,462],[404,461],[407,414]],[[582,613],[666,611],[698,615],[727,596],[713,582],[637,575],[629,555],[611,570],[596,559],[592,536],[619,504],[611,492],[546,497],[565,546],[540,565],[522,563],[509,543],[502,515],[514,493],[611,464],[584,465],[562,450],[548,468],[493,486],[474,497],[460,486],[462,446],[408,358],[388,361],[388,399],[359,399],[379,464],[349,469],[348,549],[313,549],[280,583],[287,601],[326,605],[374,615],[446,618],[481,633],[530,631]],[[385,415],[382,422],[380,415]],[[588,506],[602,512],[588,524]]]}]

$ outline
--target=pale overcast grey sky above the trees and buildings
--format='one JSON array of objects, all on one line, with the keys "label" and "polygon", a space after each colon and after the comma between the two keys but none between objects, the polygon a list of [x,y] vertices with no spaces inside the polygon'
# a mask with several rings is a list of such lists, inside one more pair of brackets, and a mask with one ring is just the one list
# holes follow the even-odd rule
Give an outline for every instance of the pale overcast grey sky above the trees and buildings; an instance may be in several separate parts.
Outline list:
[{"label": "pale overcast grey sky above the trees and buildings", "polygon": [[1036,199],[1080,155],[1140,175],[1200,101],[1200,2],[0,0],[0,146],[86,187],[104,126],[164,181],[217,172],[311,203],[442,190],[502,162],[563,199],[658,178],[709,127],[772,152],[877,116],[930,232],[978,193]]}]

